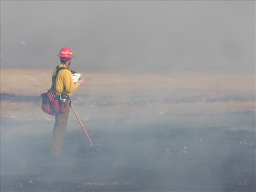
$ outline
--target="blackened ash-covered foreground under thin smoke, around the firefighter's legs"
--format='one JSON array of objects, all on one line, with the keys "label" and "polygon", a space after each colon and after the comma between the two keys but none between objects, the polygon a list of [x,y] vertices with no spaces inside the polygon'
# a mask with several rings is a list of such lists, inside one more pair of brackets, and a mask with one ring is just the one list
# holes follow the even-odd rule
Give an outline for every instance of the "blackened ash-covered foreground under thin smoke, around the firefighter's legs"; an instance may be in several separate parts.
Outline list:
[{"label": "blackened ash-covered foreground under thin smoke, around the firefighter's legs", "polygon": [[[71,116],[72,117],[72,116]],[[1,121],[1,191],[255,191],[255,113],[70,118],[63,155],[53,121]]]}]

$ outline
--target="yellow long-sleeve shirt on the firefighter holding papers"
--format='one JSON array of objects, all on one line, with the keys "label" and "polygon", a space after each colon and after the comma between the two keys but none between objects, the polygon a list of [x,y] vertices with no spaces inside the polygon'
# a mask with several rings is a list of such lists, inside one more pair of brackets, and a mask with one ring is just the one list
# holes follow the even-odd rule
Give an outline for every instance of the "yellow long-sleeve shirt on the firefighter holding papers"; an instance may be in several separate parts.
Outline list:
[{"label": "yellow long-sleeve shirt on the firefighter holding papers", "polygon": [[[60,67],[68,67],[61,63]],[[52,77],[55,78],[57,69],[54,69]],[[55,82],[53,82],[53,88],[56,95],[60,95],[61,93],[65,93],[69,96],[72,95],[72,92],[75,91],[79,86],[79,83],[74,83],[72,80],[72,73],[68,69],[60,70],[56,76]]]}]

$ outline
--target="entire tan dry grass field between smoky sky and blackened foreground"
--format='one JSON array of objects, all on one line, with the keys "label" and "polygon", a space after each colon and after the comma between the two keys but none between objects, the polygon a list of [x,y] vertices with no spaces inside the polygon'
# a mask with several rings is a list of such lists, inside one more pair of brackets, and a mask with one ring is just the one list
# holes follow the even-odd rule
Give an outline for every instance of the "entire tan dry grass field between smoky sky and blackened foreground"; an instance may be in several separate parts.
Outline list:
[{"label": "entire tan dry grass field between smoky sky and blackened foreground", "polygon": [[[80,73],[86,83],[74,92],[73,103],[84,119],[255,111],[255,75],[252,74]],[[3,68],[1,93],[39,97],[51,87],[51,75],[52,69]],[[218,102],[205,102],[218,98]],[[38,100],[2,99],[1,118],[52,119],[40,110]],[[131,104],[135,101],[137,104]],[[97,102],[103,106],[108,102],[115,104],[103,109],[95,107]]]}]

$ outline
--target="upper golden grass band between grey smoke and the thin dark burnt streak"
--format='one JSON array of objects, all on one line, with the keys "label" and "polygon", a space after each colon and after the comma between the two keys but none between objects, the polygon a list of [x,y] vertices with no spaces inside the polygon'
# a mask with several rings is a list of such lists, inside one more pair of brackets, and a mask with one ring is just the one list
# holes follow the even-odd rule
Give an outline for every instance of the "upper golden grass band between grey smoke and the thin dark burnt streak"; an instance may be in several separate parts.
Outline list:
[{"label": "upper golden grass band between grey smoke and the thin dark burnt streak", "polygon": [[[188,96],[215,91],[217,94],[254,95],[255,75],[246,74],[135,74],[80,71],[86,80],[75,95],[129,96],[170,94]],[[40,95],[51,87],[51,69],[1,69],[1,93]]]}]

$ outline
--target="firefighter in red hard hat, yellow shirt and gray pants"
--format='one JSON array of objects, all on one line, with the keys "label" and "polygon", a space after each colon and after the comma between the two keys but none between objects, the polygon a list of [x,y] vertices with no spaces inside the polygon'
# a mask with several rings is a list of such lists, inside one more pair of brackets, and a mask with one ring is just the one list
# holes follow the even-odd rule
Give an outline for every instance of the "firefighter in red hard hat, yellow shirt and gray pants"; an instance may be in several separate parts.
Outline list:
[{"label": "firefighter in red hard hat, yellow shirt and gray pants", "polygon": [[84,83],[84,79],[79,79],[73,82],[72,73],[69,69],[71,59],[74,57],[73,52],[69,47],[63,47],[59,54],[60,65],[58,65],[52,75],[52,91],[59,99],[60,112],[55,115],[55,123],[53,129],[53,138],[50,148],[50,154],[60,155],[62,151],[62,142],[66,133],[67,123],[70,112],[69,96],[75,91],[80,84]]}]

